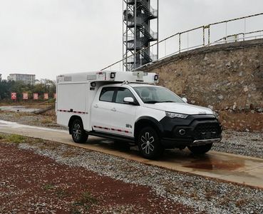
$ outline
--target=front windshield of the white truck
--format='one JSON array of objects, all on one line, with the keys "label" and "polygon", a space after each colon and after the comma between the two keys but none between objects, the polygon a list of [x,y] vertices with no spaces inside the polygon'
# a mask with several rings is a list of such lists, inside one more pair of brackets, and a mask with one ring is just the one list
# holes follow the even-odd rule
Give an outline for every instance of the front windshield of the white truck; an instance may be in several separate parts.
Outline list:
[{"label": "front windshield of the white truck", "polygon": [[143,103],[184,103],[182,99],[172,91],[163,87],[140,86],[134,87]]}]

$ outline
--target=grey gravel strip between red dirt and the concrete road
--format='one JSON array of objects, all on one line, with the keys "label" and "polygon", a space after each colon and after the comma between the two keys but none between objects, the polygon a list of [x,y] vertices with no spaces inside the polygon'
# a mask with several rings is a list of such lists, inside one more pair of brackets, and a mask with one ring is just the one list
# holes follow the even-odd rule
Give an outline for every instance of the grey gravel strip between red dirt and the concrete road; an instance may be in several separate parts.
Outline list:
[{"label": "grey gravel strip between red dirt and the concrete road", "polygon": [[[60,143],[19,143],[19,148],[71,168],[82,167],[100,176],[147,186],[163,200],[172,200],[196,210],[193,213],[263,213],[263,190],[165,170]],[[113,210],[110,213],[118,212]]]}]

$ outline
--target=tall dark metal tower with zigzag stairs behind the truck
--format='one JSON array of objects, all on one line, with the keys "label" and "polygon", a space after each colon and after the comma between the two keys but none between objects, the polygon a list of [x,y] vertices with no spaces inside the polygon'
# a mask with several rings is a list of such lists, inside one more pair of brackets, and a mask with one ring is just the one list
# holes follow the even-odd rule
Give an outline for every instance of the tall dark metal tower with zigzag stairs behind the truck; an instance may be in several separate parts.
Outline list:
[{"label": "tall dark metal tower with zigzag stairs behind the truck", "polygon": [[[153,0],[152,0],[153,1]],[[133,71],[158,59],[159,0],[123,0],[123,70]],[[155,24],[155,31],[150,26]],[[157,48],[150,51],[150,44]],[[128,57],[130,56],[130,57]]]}]

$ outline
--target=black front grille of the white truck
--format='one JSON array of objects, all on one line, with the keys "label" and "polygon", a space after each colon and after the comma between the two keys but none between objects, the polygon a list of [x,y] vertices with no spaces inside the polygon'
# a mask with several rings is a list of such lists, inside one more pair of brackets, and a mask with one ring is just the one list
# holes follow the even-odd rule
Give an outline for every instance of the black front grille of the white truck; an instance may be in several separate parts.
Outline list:
[{"label": "black front grille of the white truck", "polygon": [[194,139],[204,140],[212,138],[220,138],[220,126],[218,123],[201,123],[195,127]]}]

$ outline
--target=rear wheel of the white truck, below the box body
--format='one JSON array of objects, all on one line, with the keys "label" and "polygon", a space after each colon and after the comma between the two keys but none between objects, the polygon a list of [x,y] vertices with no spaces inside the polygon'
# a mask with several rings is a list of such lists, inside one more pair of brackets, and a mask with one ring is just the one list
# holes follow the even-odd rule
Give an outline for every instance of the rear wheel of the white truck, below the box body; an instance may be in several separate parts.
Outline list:
[{"label": "rear wheel of the white truck, below the box body", "polygon": [[88,134],[83,128],[83,123],[80,119],[75,119],[71,125],[71,136],[75,143],[86,143]]}]

